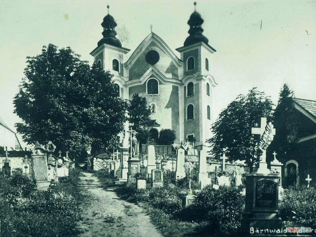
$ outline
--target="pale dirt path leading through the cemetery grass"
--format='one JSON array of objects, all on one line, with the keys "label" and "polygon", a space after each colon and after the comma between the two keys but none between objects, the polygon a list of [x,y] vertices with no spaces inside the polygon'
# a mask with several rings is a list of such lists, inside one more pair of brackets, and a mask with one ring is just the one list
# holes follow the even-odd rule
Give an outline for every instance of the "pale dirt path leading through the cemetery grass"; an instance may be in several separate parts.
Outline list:
[{"label": "pale dirt path leading through the cemetery grass", "polygon": [[100,187],[97,177],[84,173],[80,186],[89,202],[82,205],[83,220],[79,222],[80,237],[160,237],[149,216],[136,204],[121,200],[113,189]]}]

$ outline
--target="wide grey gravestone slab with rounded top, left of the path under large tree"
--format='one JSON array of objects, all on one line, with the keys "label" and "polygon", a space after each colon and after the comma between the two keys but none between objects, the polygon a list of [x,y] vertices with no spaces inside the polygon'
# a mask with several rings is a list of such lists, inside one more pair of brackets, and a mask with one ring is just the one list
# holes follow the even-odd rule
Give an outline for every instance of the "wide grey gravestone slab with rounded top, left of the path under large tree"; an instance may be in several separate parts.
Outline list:
[{"label": "wide grey gravestone slab with rounded top, left of the path under large tree", "polygon": [[46,151],[36,144],[32,155],[33,180],[36,181],[38,189],[48,189],[50,182],[47,176],[47,154]]}]

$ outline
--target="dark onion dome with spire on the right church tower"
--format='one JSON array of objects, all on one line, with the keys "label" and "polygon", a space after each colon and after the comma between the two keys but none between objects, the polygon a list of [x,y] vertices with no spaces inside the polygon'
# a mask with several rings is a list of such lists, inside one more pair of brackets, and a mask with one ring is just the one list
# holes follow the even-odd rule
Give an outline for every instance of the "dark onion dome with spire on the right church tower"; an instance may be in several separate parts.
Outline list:
[{"label": "dark onion dome with spire on the right church tower", "polygon": [[[194,6],[196,6],[196,2],[194,2]],[[196,10],[194,10],[188,21],[188,25],[190,26],[188,33],[190,35],[185,39],[183,44],[184,46],[193,45],[199,42],[208,44],[209,40],[202,34],[203,29],[201,25],[203,22],[204,20],[202,19],[201,15]]]}]

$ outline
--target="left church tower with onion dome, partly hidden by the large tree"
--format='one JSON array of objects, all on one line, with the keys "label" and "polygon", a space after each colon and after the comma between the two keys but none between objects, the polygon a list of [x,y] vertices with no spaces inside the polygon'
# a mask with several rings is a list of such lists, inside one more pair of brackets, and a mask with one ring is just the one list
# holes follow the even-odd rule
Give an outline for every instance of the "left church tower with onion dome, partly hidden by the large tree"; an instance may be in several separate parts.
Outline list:
[{"label": "left church tower with onion dome, partly hidden by the large tree", "polygon": [[115,27],[117,26],[113,16],[109,14],[109,5],[107,5],[107,15],[103,18],[101,26],[103,27],[103,38],[99,40],[96,47],[90,54],[94,57],[94,62],[99,63],[104,70],[109,70],[114,76],[113,80],[118,87],[118,96],[125,99],[127,92],[124,91],[124,59],[126,53],[130,50],[123,48],[119,39],[117,39]]}]

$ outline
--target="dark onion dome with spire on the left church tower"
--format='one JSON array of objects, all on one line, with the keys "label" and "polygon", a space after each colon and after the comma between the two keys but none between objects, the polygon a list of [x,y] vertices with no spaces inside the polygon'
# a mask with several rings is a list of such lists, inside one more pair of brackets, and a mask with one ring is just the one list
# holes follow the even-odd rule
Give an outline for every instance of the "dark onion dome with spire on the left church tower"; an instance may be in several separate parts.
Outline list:
[{"label": "dark onion dome with spire on the left church tower", "polygon": [[109,14],[110,6],[107,5],[107,15],[103,18],[103,22],[101,26],[103,27],[103,38],[98,42],[98,46],[102,44],[109,44],[117,47],[122,47],[121,42],[119,39],[115,38],[116,32],[115,27],[117,26],[113,16]]}]

